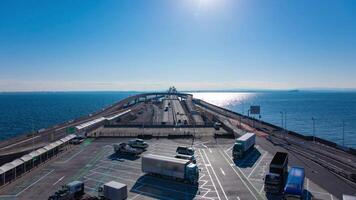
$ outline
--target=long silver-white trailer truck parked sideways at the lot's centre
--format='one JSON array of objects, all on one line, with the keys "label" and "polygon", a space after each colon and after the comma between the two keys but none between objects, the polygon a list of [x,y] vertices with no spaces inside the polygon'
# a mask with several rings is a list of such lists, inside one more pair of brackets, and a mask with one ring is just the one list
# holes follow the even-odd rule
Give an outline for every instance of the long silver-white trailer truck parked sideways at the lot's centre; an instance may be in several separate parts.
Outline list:
[{"label": "long silver-white trailer truck parked sideways at the lot's centre", "polygon": [[198,166],[190,160],[148,154],[142,157],[142,172],[180,179],[191,184],[199,180]]}]

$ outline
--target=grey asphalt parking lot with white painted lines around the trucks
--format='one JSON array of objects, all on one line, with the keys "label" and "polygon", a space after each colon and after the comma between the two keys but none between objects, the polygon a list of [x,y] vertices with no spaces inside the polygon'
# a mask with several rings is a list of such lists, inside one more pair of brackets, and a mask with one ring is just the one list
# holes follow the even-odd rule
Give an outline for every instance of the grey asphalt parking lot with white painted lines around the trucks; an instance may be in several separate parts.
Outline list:
[{"label": "grey asphalt parking lot with white painted lines around the trucks", "polygon": [[[97,195],[103,183],[115,180],[128,186],[128,199],[266,199],[263,177],[272,155],[256,149],[234,163],[233,140],[212,137],[194,141],[200,179],[197,186],[167,178],[145,175],[141,158],[114,154],[112,144],[125,138],[88,139],[38,167],[0,190],[0,199],[47,199],[61,185],[73,180],[85,183],[85,191]],[[178,145],[191,145],[191,139],[151,139],[143,154],[174,156]],[[336,199],[306,180],[308,199]]]}]

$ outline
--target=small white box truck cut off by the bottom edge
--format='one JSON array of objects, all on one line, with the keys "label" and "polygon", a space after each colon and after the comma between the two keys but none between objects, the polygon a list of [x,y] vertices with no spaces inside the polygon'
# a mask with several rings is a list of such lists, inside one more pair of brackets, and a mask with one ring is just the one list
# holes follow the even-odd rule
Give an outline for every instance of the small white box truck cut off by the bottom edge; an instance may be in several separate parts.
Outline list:
[{"label": "small white box truck cut off by the bottom edge", "polygon": [[127,186],[116,181],[110,181],[99,187],[98,196],[101,200],[127,199]]}]

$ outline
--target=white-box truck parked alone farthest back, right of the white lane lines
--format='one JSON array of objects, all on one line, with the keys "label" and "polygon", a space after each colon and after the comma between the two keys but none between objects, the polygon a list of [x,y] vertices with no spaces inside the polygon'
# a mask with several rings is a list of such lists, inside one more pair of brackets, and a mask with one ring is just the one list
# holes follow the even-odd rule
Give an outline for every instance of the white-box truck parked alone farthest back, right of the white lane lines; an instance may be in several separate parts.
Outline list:
[{"label": "white-box truck parked alone farthest back, right of the white lane lines", "polygon": [[246,153],[253,149],[256,143],[256,135],[254,133],[245,133],[235,140],[232,148],[232,157],[234,159],[242,158]]}]

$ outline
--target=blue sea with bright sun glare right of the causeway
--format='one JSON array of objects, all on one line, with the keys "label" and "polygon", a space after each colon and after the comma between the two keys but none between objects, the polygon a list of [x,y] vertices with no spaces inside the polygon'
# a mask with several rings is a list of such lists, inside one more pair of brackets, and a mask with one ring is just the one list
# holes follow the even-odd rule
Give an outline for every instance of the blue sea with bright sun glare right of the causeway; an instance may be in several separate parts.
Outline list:
[{"label": "blue sea with bright sun glare right of the causeway", "polygon": [[[281,112],[286,112],[287,129],[315,135],[342,144],[343,121],[345,145],[356,147],[356,92],[258,92],[193,93],[196,98],[247,115],[250,105],[261,106],[262,120],[282,126]],[[258,118],[258,116],[255,116]]]}]

